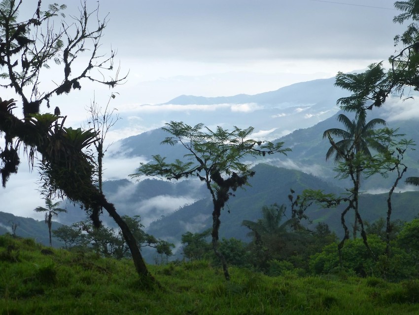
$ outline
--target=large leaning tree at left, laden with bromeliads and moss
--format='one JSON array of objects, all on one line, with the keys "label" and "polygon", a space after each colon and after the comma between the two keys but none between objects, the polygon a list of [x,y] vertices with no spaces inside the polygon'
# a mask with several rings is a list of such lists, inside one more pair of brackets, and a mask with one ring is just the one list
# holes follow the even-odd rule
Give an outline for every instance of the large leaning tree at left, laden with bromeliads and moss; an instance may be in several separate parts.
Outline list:
[{"label": "large leaning tree at left, laden with bromeliads and moss", "polygon": [[[80,89],[84,81],[113,87],[126,78],[118,78],[119,69],[113,69],[115,52],[105,57],[99,51],[107,19],[98,18],[99,6],[89,12],[84,1],[80,14],[66,20],[65,5],[51,4],[42,11],[39,0],[32,18],[18,21],[22,2],[0,2],[0,85],[12,88],[17,95],[16,100],[0,100],[0,132],[4,134],[0,148],[2,184],[5,186],[9,176],[17,173],[23,147],[32,163],[34,159],[39,161],[46,197],[66,196],[81,203],[91,211],[96,227],[101,224],[101,209],[105,209],[120,227],[138,274],[152,278],[129,227],[94,185],[95,159],[88,148],[96,141],[97,132],[65,127],[66,117],[60,116],[58,108],[54,114],[40,114],[41,109],[43,112],[50,108],[54,96]],[[55,80],[50,90],[41,91],[41,78],[45,80],[45,73],[52,68],[61,69],[61,79]],[[105,79],[105,72],[112,70],[116,74]],[[15,112],[18,104],[23,119]]]}]

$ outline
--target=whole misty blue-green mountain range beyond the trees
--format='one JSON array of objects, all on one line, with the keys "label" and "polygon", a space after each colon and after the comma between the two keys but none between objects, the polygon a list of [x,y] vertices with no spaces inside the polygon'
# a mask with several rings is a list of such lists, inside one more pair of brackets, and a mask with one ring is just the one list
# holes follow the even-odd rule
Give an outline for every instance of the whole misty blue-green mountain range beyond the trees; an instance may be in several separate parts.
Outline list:
[{"label": "whole misty blue-green mountain range beyond the trees", "polygon": [[[214,98],[183,95],[165,104],[157,105],[162,109],[168,105],[185,107],[184,112],[176,112],[177,116],[170,116],[170,120],[185,120],[189,124],[203,122],[209,126],[219,121],[224,127],[252,125],[255,127],[257,137],[262,139],[266,137],[273,142],[282,141],[285,147],[292,149],[286,157],[254,160],[255,175],[249,180],[251,186],[235,192],[235,197],[230,198],[221,215],[220,237],[237,237],[247,240],[248,231],[241,226],[241,222],[257,220],[261,216],[261,208],[264,205],[284,204],[288,208],[285,214],[289,216],[290,189],[293,189],[296,194],[307,188],[323,190],[326,193],[345,193],[348,182],[334,178],[336,175],[333,171],[334,164],[332,161],[325,160],[325,153],[330,144],[322,138],[324,130],[342,127],[336,120],[336,115],[339,114],[336,100],[348,93],[335,87],[333,83],[333,78],[320,79],[296,83],[277,91],[257,95],[240,94]],[[220,104],[228,104],[229,107],[217,108]],[[206,107],[207,109],[203,112],[205,115],[189,115],[190,106],[194,106],[195,110]],[[215,108],[214,111],[208,110],[211,106]],[[234,108],[236,110],[233,110]],[[169,114],[163,111],[161,114],[162,120],[169,120],[166,119]],[[201,119],[198,120],[199,118]],[[419,141],[419,130],[415,120],[392,120],[389,126],[400,128],[400,133],[405,133],[406,138]],[[294,131],[289,132],[290,130]],[[118,148],[117,152],[113,152],[107,158],[117,160],[121,157],[141,157],[148,160],[157,154],[168,157],[168,160],[182,158],[185,152],[182,151],[181,146],[160,145],[166,136],[168,134],[162,129],[155,129],[122,139],[115,144]],[[407,176],[419,175],[418,151],[407,152],[405,160],[409,166]],[[134,171],[135,169],[132,170]],[[388,192],[391,180],[393,180],[391,175],[388,179],[378,175],[373,176],[362,182],[362,189],[367,192]],[[419,201],[419,193],[414,191],[402,193],[408,189],[411,190],[401,184],[394,194],[393,219],[411,220],[418,214],[419,209],[416,204]],[[141,215],[142,223],[146,226],[148,233],[174,242],[176,245],[179,245],[180,236],[183,233],[200,232],[211,226],[212,202],[205,186],[198,180],[168,182],[149,178],[132,182],[123,178],[106,181],[104,193],[115,204],[121,215]],[[363,194],[360,201],[363,218],[374,221],[383,217],[386,209],[385,200],[386,194]],[[65,206],[68,213],[60,214],[59,222],[70,225],[86,219],[85,212],[77,205],[67,202]],[[310,224],[325,222],[333,231],[341,235],[341,210],[342,208],[321,209],[312,206],[307,214],[313,222]],[[102,215],[101,219],[105,225],[114,226],[107,215]],[[0,220],[4,229],[8,227],[9,223],[6,222],[9,221]],[[41,223],[39,227],[44,225],[44,231],[39,231],[39,233],[47,236],[45,224],[39,221],[32,223],[38,224],[36,222]],[[17,234],[19,230],[24,231],[18,228]],[[33,229],[33,232],[35,231],[37,233],[37,229]],[[36,234],[33,237],[38,236]]]}]

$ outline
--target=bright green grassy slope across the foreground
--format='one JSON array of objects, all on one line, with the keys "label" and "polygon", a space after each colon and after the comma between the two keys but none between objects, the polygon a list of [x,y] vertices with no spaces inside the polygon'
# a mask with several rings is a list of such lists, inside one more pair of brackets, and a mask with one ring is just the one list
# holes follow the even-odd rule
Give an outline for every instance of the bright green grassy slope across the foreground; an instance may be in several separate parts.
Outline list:
[{"label": "bright green grassy slope across the foreground", "polygon": [[102,258],[0,236],[0,315],[23,314],[419,314],[419,281],[345,276],[268,277],[206,261],[149,266],[145,286],[131,260]]}]

